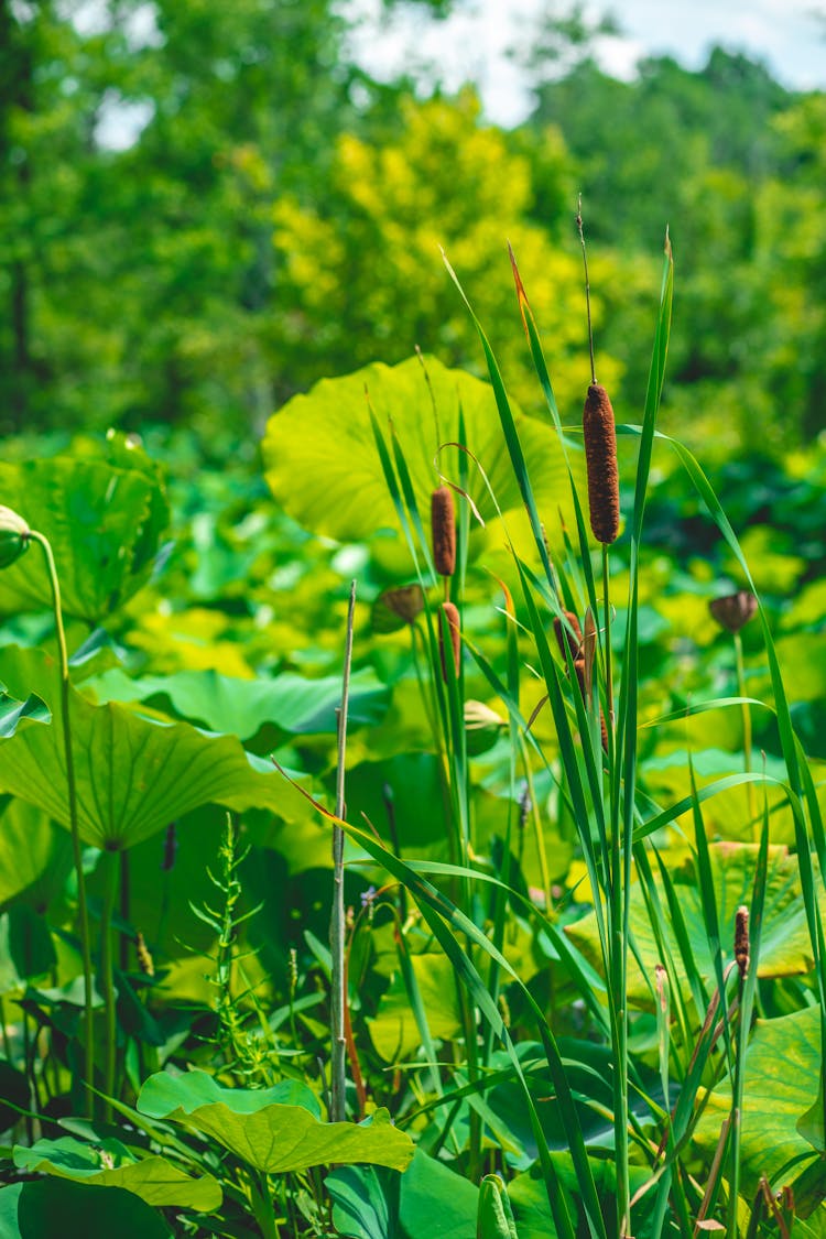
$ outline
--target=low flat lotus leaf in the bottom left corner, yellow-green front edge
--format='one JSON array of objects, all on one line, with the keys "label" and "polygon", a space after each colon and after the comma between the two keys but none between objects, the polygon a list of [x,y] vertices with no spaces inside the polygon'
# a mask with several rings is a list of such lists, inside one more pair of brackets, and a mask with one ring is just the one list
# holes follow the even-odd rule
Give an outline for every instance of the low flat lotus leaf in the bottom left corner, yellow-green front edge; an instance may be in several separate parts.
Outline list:
[{"label": "low flat lotus leaf in the bottom left corner, yellow-green front edge", "polygon": [[166,1157],[151,1155],[136,1158],[119,1140],[99,1145],[73,1136],[38,1140],[31,1149],[15,1147],[19,1170],[54,1175],[92,1187],[121,1187],[156,1208],[177,1207],[211,1213],[220,1208],[223,1192],[212,1175],[192,1178]]}]

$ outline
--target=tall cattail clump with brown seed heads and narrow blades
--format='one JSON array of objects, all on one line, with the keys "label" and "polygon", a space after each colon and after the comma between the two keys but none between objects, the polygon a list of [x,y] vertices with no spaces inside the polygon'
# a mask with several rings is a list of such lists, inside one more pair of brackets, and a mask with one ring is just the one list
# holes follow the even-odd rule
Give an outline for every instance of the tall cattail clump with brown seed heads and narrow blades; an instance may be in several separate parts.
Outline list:
[{"label": "tall cattail clump with brown seed heads and narrow blades", "polygon": [[[757,1223],[749,1229],[750,1214],[742,1196],[744,1180],[741,1162],[746,1062],[753,1036],[752,1014],[758,1001],[759,943],[769,871],[768,799],[759,847],[757,852],[748,854],[748,867],[743,875],[743,903],[737,912],[736,928],[729,921],[732,933],[728,939],[721,927],[718,903],[722,891],[716,876],[716,854],[706,839],[702,804],[731,787],[746,784],[753,793],[760,786],[770,788],[776,781],[747,768],[744,773],[726,774],[697,787],[690,764],[690,794],[666,807],[659,804],[641,782],[638,755],[638,733],[641,727],[638,668],[643,529],[654,444],[659,434],[656,419],[670,333],[674,263],[666,234],[641,425],[615,426],[606,388],[596,379],[589,282],[580,209],[576,224],[586,275],[591,363],[591,383],[582,419],[587,513],[597,549],[588,536],[587,518],[576,482],[580,456],[576,432],[563,431],[539,331],[511,253],[528,347],[567,461],[575,536],[568,538],[566,532],[562,548],[555,546],[546,538],[546,527],[526,463],[528,453],[520,441],[518,418],[510,405],[493,348],[474,318],[489,370],[504,447],[528,514],[539,567],[536,559],[531,561],[521,549],[524,539],[511,539],[510,517],[499,512],[495,493],[483,475],[494,508],[502,515],[503,535],[511,555],[518,589],[511,597],[509,587],[504,586],[506,670],[498,672],[488,663],[485,652],[478,648],[476,641],[466,638],[464,675],[469,674],[473,663],[474,674],[487,680],[492,694],[506,706],[514,823],[523,820],[520,784],[516,778],[520,762],[525,772],[521,789],[533,786],[535,777],[541,773],[554,787],[552,803],[559,807],[560,817],[573,823],[581,875],[576,895],[570,891],[563,897],[563,903],[554,908],[550,902],[550,883],[545,882],[549,897],[542,902],[547,914],[541,918],[534,906],[530,916],[541,918],[542,932],[552,943],[555,963],[551,968],[577,994],[577,1001],[586,1012],[589,1036],[604,1046],[607,1059],[603,1063],[607,1066],[601,1080],[611,1098],[609,1104],[597,1100],[596,1094],[589,1098],[586,1095],[587,1087],[580,1092],[578,1085],[578,1101],[575,1103],[573,1080],[581,1082],[583,1075],[580,1073],[592,1069],[591,1066],[586,1067],[591,1059],[577,1048],[580,1042],[568,1041],[562,1048],[556,1030],[557,1021],[563,1018],[560,1011],[554,1009],[549,1015],[506,959],[508,939],[502,932],[500,922],[504,903],[499,893],[508,887],[510,880],[510,819],[499,854],[504,860],[494,867],[499,886],[492,900],[492,911],[488,918],[479,914],[479,908],[484,906],[480,892],[490,880],[490,872],[485,871],[476,847],[469,846],[474,838],[472,772],[457,731],[457,710],[464,675],[459,678],[458,668],[456,676],[447,674],[450,668],[446,665],[446,638],[453,628],[458,632],[458,611],[456,623],[452,612],[450,616],[446,613],[447,607],[454,607],[462,596],[462,582],[456,579],[451,579],[450,587],[453,601],[441,603],[437,610],[427,610],[431,684],[438,703],[436,715],[441,721],[441,738],[437,737],[437,743],[445,755],[450,786],[448,823],[451,833],[456,833],[462,843],[453,851],[459,857],[458,866],[442,865],[438,870],[433,869],[433,873],[451,876],[451,898],[425,881],[422,872],[427,872],[426,867],[420,866],[419,872],[414,872],[367,833],[353,829],[353,834],[407,888],[472,1000],[472,1020],[467,1018],[466,1007],[467,1074],[462,1077],[468,1082],[463,1087],[479,1101],[479,1106],[473,1110],[477,1127],[471,1134],[471,1142],[476,1139],[483,1145],[484,1137],[489,1139],[493,1130],[482,1109],[487,1087],[484,1070],[490,1062],[489,1047],[499,1042],[510,1056],[510,1075],[521,1089],[535,1136],[537,1170],[545,1183],[555,1233],[566,1239],[573,1239],[575,1235],[630,1239],[632,1235],[643,1233],[658,1239],[666,1234],[693,1239],[698,1230],[726,1229],[732,1237],[747,1232],[750,1237],[760,1232]],[[473,315],[456,273],[447,259],[445,261]],[[445,539],[441,527],[438,535],[436,530],[432,534],[431,559],[430,548],[421,536],[422,525],[396,430],[393,430],[391,452],[375,420],[373,429],[396,513],[414,553],[420,584],[426,592],[440,574],[446,582],[448,580],[448,574],[440,567],[447,563],[442,558]],[[398,434],[401,436],[402,430]],[[635,476],[628,479],[633,501],[622,535],[617,455],[619,435],[635,440],[638,445]],[[482,472],[489,462],[477,461],[474,445],[466,441],[461,427],[456,441],[463,449],[457,455],[463,467],[469,468],[471,461]],[[811,957],[815,960],[815,994],[822,1010],[826,1005],[826,970],[816,897],[819,878],[810,859],[810,831],[824,859],[826,836],[816,789],[800,757],[772,633],[734,532],[697,462],[680,444],[674,442],[672,447],[737,558],[760,616],[774,689],[773,709],[779,722],[781,755],[788,772],[788,779],[783,782],[785,804],[790,820],[795,823],[802,902]],[[467,477],[457,479],[456,491],[461,497],[467,486]],[[432,499],[432,513],[442,520],[442,504],[447,503],[445,487],[440,487],[436,496]],[[469,504],[461,503],[463,518],[467,517],[468,507]],[[622,612],[614,611],[609,593],[611,555],[617,555],[628,576],[628,595]],[[446,600],[447,593],[446,589]],[[750,606],[748,603],[747,608]],[[618,615],[622,615],[622,622]],[[586,617],[585,623],[581,623],[580,616]],[[615,633],[612,633],[612,626],[615,626]],[[551,628],[554,637],[549,641]],[[530,715],[521,707],[525,689],[520,688],[520,681],[526,667],[533,676],[540,678],[544,689],[542,700]],[[530,683],[535,683],[535,679]],[[726,699],[697,709],[724,709],[731,704]],[[552,721],[554,738],[537,731],[536,720],[544,710],[550,711],[549,724]],[[530,799],[534,803],[536,798],[531,795]],[[686,817],[692,823],[693,834],[691,826],[685,825]],[[661,852],[664,846],[676,841],[684,855],[690,857],[696,873],[695,893],[700,902],[702,927],[700,939],[696,928],[689,929],[675,877]],[[521,844],[516,846],[521,855]],[[739,864],[746,857],[737,849],[752,846],[736,845]],[[586,940],[585,930],[568,924],[568,934],[560,926],[560,914],[566,921],[570,917],[565,912],[565,901],[585,901],[586,888],[592,909],[588,917],[587,942],[591,949],[587,960],[580,949]],[[515,897],[510,891],[508,898],[513,901]],[[743,911],[747,906],[750,907],[748,947],[747,914]],[[733,918],[733,908],[727,909],[727,919]],[[649,940],[653,944],[650,947]],[[726,940],[727,948],[722,945]],[[729,954],[732,947],[734,958]],[[654,959],[651,952],[656,953]],[[639,980],[633,975],[634,970],[639,970]],[[506,1006],[499,1002],[499,984],[503,979],[513,990]],[[732,985],[736,986],[734,992]],[[508,1023],[502,1016],[503,1010],[513,1011],[511,999],[516,992],[523,1007],[521,1036],[528,1036],[525,1026],[533,1022],[544,1056],[544,1070],[547,1073],[546,1090],[550,1087],[559,1123],[556,1139],[566,1146],[565,1191],[560,1177],[562,1155],[554,1160],[549,1154],[540,1119],[542,1108],[536,1104],[535,1090],[530,1087],[523,1061],[515,1051],[509,1030],[510,1015]],[[653,1047],[651,1052],[645,1048],[646,1038],[650,1041],[651,1037],[649,1011],[658,1011],[659,1085],[651,1082],[656,1053]],[[483,1026],[478,1032],[477,1018]],[[710,1097],[726,1088],[731,1089],[732,1101],[722,1136],[717,1140],[703,1126],[703,1111]],[[441,1103],[437,1100],[433,1104]],[[592,1129],[602,1120],[608,1123],[609,1131],[601,1127],[597,1135]],[[705,1184],[696,1177],[696,1155],[691,1151],[695,1139],[701,1139],[706,1149],[711,1140],[711,1147],[716,1150]],[[749,1147],[753,1149],[753,1142]],[[467,1161],[471,1176],[476,1166],[478,1157],[471,1155]],[[609,1173],[607,1166],[611,1167]],[[790,1176],[794,1178],[793,1171]],[[519,1230],[519,1217],[516,1229]]]}]

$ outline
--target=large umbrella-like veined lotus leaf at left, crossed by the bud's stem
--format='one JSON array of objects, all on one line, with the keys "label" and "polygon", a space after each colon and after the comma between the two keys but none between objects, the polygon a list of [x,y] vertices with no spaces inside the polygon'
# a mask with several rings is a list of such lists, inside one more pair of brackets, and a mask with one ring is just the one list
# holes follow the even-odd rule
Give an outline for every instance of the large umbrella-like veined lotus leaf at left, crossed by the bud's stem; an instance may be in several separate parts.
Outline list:
[{"label": "large umbrella-like veined lotus leaf at left, crossed by the bud's stem", "polygon": [[[15,649],[0,655],[0,678],[12,675],[30,676],[41,695],[50,694],[53,722],[25,717],[11,737],[0,737],[0,793],[19,795],[68,826],[54,668],[38,650]],[[246,753],[235,736],[157,722],[115,703],[93,705],[74,689],[69,717],[78,825],[83,841],[95,847],[130,847],[202,804],[239,813],[270,809],[286,820],[308,817],[301,793],[271,762]]]}]

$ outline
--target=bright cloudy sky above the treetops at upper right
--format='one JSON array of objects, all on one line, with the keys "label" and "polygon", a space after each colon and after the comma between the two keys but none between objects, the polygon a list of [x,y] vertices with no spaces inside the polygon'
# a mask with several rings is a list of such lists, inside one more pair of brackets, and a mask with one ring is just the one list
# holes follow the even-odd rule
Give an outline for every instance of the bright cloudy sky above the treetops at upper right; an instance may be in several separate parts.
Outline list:
[{"label": "bright cloudy sky above the treetops at upper right", "polygon": [[[424,85],[440,81],[453,90],[473,81],[490,120],[511,125],[528,114],[529,97],[505,53],[530,37],[544,0],[456,0],[454,14],[438,22],[419,9],[385,24],[381,0],[346,0],[343,7],[364,17],[354,50],[379,79],[407,68]],[[624,32],[596,48],[617,77],[633,77],[640,56],[660,53],[700,68],[721,43],[764,61],[790,89],[826,89],[826,0],[607,0],[585,7],[593,17],[609,10]]]}]

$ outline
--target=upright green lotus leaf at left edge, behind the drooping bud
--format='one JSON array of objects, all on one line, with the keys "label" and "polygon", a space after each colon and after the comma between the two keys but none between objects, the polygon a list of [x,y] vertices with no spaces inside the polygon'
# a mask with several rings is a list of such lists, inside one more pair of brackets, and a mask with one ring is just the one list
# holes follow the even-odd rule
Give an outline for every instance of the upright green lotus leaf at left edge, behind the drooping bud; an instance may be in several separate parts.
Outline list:
[{"label": "upright green lotus leaf at left edge, behind the drooping bud", "polygon": [[[0,502],[48,538],[63,612],[89,624],[105,620],[147,580],[168,523],[163,488],[147,457],[135,449],[116,460],[0,463]],[[43,553],[32,545],[0,574],[0,611],[51,605]]]}]

